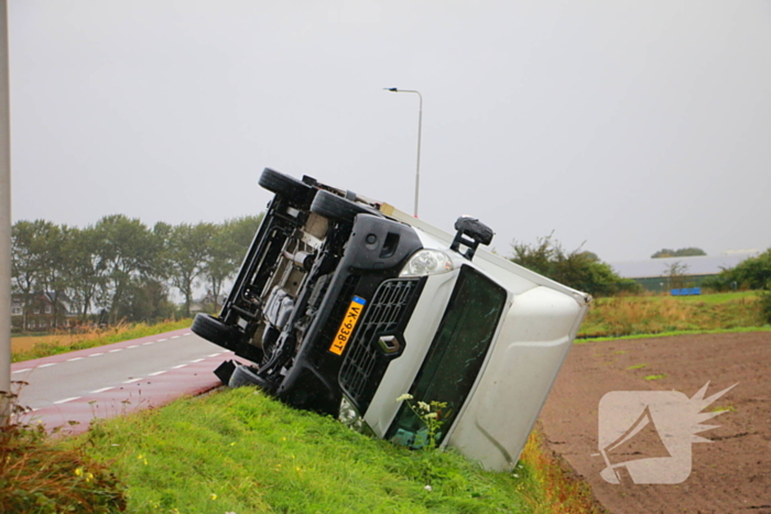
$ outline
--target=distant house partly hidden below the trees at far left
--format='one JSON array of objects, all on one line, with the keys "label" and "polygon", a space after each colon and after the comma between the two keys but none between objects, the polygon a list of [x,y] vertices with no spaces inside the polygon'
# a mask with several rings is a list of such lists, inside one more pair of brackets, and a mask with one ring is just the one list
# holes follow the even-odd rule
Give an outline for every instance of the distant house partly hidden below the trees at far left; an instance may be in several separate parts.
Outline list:
[{"label": "distant house partly hidden below the trees at far left", "polygon": [[[22,295],[11,295],[11,329],[22,331],[47,331],[69,327],[77,316],[73,302],[64,293],[35,293],[24,307]],[[24,325],[26,324],[26,326]]]}]

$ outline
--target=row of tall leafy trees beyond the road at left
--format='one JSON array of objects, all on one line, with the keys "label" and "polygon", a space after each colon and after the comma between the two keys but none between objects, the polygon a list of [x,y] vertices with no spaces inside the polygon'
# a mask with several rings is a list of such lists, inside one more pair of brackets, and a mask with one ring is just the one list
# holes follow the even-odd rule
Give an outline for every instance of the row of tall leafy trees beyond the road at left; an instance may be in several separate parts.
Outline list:
[{"label": "row of tall leafy trees beyond the road at left", "polygon": [[123,215],[105,216],[86,228],[20,220],[11,230],[12,289],[25,315],[34,295],[51,292],[66,295],[83,319],[100,311],[109,322],[162,319],[175,313],[169,302],[174,288],[184,297],[181,314],[189,316],[198,285],[216,309],[261,220],[260,214],[152,228]]}]

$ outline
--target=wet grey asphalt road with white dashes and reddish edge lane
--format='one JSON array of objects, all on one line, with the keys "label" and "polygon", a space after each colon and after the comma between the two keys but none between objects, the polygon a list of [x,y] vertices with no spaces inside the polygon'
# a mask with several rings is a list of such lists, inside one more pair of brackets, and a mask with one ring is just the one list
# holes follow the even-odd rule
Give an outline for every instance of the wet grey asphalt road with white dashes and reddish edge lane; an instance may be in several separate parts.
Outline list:
[{"label": "wet grey asphalt road with white dashes and reddish edge lane", "polygon": [[232,352],[189,329],[18,362],[20,420],[79,433],[94,417],[156,407],[220,385],[214,370]]}]

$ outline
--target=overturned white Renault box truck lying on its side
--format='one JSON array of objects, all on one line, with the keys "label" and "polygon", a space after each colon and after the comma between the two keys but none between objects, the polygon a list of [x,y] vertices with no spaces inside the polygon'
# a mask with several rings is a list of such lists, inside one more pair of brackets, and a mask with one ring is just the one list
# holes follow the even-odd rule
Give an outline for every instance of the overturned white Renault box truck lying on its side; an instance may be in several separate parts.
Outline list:
[{"label": "overturned white Renault box truck lying on its side", "polygon": [[590,297],[351,192],[265,168],[275,194],[218,316],[193,331],[251,361],[215,373],[337,416],[345,398],[381,438],[425,441],[397,398],[443,402],[435,440],[511,469]]}]

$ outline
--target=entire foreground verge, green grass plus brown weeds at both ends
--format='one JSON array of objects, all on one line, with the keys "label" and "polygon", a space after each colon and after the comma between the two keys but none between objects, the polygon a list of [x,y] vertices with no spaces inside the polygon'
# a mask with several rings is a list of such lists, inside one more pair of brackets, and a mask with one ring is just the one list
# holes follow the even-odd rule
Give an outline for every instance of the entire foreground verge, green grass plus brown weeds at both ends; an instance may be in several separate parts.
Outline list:
[{"label": "entire foreground verge, green grass plus brown weeds at both ends", "polygon": [[167,514],[599,512],[578,490],[544,488],[557,468],[536,438],[513,473],[487,472],[454,451],[410,451],[250,387],[37,442],[44,455],[34,462],[0,448],[10,456],[0,466],[2,512],[120,512],[123,499],[128,512]]}]

